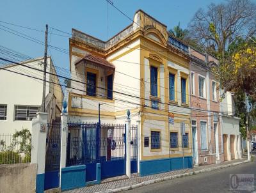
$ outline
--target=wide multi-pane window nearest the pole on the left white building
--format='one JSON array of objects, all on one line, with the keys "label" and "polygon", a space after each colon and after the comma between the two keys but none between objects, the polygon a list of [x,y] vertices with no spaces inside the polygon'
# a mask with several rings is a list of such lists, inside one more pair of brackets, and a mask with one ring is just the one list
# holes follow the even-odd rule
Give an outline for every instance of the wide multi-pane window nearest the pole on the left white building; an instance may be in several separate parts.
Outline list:
[{"label": "wide multi-pane window nearest the pole on the left white building", "polygon": [[31,121],[39,107],[15,105],[15,121]]}]

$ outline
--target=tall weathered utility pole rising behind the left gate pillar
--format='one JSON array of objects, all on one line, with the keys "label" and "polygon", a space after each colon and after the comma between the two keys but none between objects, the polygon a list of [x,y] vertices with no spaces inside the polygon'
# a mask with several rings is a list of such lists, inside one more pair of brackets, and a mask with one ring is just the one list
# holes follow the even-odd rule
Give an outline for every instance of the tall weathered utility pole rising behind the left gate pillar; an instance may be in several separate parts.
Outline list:
[{"label": "tall weathered utility pole rising behind the left gate pillar", "polygon": [[46,30],[45,30],[45,40],[44,40],[44,86],[43,86],[43,99],[42,99],[42,105],[43,105],[43,112],[45,112],[45,86],[46,86],[46,67],[47,67],[47,36],[48,36],[48,25],[46,24]]}]

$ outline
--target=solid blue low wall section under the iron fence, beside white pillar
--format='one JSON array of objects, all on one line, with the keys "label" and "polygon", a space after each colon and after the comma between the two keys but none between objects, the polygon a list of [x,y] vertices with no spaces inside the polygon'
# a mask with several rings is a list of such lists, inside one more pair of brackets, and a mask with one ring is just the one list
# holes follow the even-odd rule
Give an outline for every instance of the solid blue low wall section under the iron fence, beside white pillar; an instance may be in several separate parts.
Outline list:
[{"label": "solid blue low wall section under the iron fence, beside white pillar", "polygon": [[85,181],[85,165],[61,168],[61,191],[85,187]]}]

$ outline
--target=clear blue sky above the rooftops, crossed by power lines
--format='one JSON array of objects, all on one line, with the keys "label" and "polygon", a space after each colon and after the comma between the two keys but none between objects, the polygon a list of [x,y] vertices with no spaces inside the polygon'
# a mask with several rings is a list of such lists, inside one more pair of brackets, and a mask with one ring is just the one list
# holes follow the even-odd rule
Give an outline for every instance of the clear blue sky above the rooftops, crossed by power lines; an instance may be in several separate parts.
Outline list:
[{"label": "clear blue sky above the rooftops, crossed by power lines", "polygon": [[[220,3],[221,0],[194,0],[194,1],[150,1],[150,0],[113,0],[116,7],[120,8],[129,17],[133,18],[136,10],[143,10],[152,17],[156,18],[168,29],[176,26],[180,22],[180,26],[187,27],[196,10],[206,8],[211,3]],[[107,13],[109,7],[109,22],[107,22]],[[127,19],[120,12],[115,10],[110,4],[107,6],[105,0],[95,1],[60,1],[60,0],[9,0],[1,3],[0,20],[18,24],[20,26],[32,27],[35,29],[45,30],[45,24],[71,33],[71,29],[76,28],[84,33],[95,36],[102,40],[108,39],[115,35],[124,27],[131,24],[131,20]],[[107,24],[108,23],[108,24]],[[8,24],[1,25],[15,29],[21,33],[32,36],[44,42],[44,33],[22,29],[20,27],[10,26]],[[4,28],[0,26],[1,28]],[[53,31],[52,33],[60,33]],[[61,34],[61,33],[60,33]],[[65,34],[62,34],[65,35]],[[49,35],[49,44],[63,49],[68,49],[68,38]],[[30,42],[19,36],[12,35],[0,29],[0,45],[21,52],[33,58],[44,56],[44,46],[34,42]],[[63,68],[69,68],[69,56],[56,50],[51,49],[54,59],[54,65]]]}]

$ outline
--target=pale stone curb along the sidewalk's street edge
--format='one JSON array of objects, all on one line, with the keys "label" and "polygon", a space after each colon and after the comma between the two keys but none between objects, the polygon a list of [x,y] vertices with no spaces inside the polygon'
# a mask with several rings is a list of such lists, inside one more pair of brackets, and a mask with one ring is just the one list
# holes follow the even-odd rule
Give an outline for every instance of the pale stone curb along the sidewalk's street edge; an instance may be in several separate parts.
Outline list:
[{"label": "pale stone curb along the sidewalk's street edge", "polygon": [[200,173],[214,171],[214,170],[222,169],[222,168],[225,168],[225,167],[237,166],[237,165],[240,165],[240,164],[244,164],[246,162],[250,162],[250,161],[244,160],[243,162],[236,162],[236,163],[227,164],[227,165],[223,165],[223,166],[216,166],[216,167],[210,167],[210,168],[206,168],[206,169],[200,169],[198,171],[193,171],[193,172],[184,173],[184,174],[177,174],[177,175],[174,175],[174,176],[167,176],[167,177],[164,177],[164,178],[157,178],[157,179],[154,179],[154,180],[143,181],[143,182],[137,183],[135,185],[129,185],[127,187],[121,187],[121,188],[118,188],[118,189],[103,190],[103,191],[95,192],[95,193],[114,193],[114,192],[121,192],[121,191],[125,191],[125,190],[136,189],[138,187],[143,187],[145,185],[149,185],[149,184],[152,184],[152,183],[157,183],[157,182],[160,182],[160,181],[172,180],[172,179],[175,179],[175,178],[183,178],[183,177],[186,177],[186,176],[192,176],[192,175],[196,175],[196,174],[200,174]]}]

